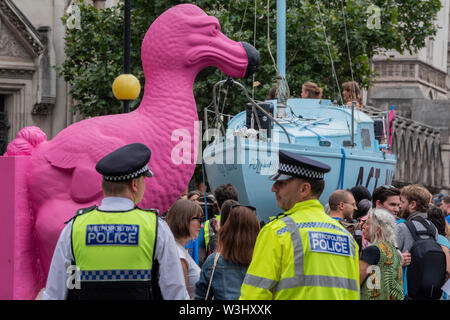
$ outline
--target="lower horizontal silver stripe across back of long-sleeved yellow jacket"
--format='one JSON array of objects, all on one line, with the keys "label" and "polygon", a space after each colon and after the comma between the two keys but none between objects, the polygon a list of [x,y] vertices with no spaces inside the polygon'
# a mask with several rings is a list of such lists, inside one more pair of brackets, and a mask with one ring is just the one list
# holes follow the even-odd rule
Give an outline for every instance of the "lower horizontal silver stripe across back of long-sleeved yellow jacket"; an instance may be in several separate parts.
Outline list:
[{"label": "lower horizontal silver stripe across back of long-sleeved yellow jacket", "polygon": [[280,280],[277,291],[283,289],[293,289],[297,287],[332,287],[358,291],[358,283],[354,279],[318,276],[318,275],[296,275],[292,278]]}]

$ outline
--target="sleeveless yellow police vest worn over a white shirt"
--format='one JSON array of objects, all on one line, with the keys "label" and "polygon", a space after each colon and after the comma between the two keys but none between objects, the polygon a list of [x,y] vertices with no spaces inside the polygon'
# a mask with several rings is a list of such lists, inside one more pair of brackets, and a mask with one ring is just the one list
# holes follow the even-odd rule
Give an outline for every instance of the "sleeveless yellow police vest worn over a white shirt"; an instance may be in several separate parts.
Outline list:
[{"label": "sleeveless yellow police vest worn over a white shirt", "polygon": [[139,208],[77,216],[72,246],[81,281],[150,281],[156,219],[154,212]]}]

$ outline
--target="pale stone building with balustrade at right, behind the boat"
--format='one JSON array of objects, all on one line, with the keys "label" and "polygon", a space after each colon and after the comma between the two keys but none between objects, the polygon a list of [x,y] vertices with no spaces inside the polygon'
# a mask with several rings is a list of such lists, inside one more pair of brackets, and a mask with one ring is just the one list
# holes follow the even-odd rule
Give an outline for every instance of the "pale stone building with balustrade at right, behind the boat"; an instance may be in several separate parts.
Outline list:
[{"label": "pale stone building with balustrade at right, behind the boat", "polygon": [[[414,126],[420,128],[412,129],[411,123],[405,119],[399,121],[401,123],[398,125],[399,130],[403,128],[409,132],[408,134],[399,132],[397,135],[399,140],[396,151],[399,163],[409,161],[417,164],[417,159],[420,158],[424,166],[425,162],[435,164],[436,172],[430,173],[428,175],[430,179],[427,179],[436,183],[439,181],[438,187],[448,193],[450,192],[450,55],[448,54],[450,1],[441,0],[441,3],[442,8],[435,22],[438,26],[437,34],[434,40],[427,40],[425,48],[416,54],[386,51],[373,57],[371,68],[376,71],[377,76],[373,79],[374,86],[367,93],[367,104],[383,111],[389,110],[394,105],[396,115],[402,119],[412,120]],[[440,142],[437,150],[439,152],[436,150],[431,152],[437,147],[435,143],[430,147],[429,143],[425,142],[430,140],[430,132],[432,140]],[[440,158],[435,159],[438,154]],[[422,171],[413,170],[409,165],[405,167],[404,164],[399,164],[396,173],[398,180],[421,182],[419,176]]]}]

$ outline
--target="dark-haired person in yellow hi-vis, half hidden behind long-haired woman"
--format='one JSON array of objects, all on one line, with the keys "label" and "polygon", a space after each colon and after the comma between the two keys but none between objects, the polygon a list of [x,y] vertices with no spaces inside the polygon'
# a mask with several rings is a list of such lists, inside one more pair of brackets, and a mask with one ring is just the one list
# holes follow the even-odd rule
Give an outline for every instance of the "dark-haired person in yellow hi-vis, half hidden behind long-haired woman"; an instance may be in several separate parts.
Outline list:
[{"label": "dark-haired person in yellow hi-vis, half hidden behind long-haired woman", "polygon": [[220,228],[220,208],[226,200],[239,201],[239,193],[232,184],[222,184],[214,190],[214,210],[208,212],[208,220],[199,235],[200,263],[204,261],[217,246],[217,229]]}]

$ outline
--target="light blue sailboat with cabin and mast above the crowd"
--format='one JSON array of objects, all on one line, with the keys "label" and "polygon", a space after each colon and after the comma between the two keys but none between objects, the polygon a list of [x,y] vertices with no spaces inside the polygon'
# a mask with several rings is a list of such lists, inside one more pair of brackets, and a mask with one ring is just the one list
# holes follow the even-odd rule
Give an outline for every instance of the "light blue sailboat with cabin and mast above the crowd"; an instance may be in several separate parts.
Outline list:
[{"label": "light blue sailboat with cabin and mast above the crowd", "polygon": [[[278,0],[277,13],[285,12]],[[283,16],[277,16],[277,65],[285,77]],[[281,23],[280,23],[281,22]],[[280,27],[281,25],[281,27]],[[281,29],[280,29],[281,28]],[[253,101],[245,88],[228,79],[217,86],[235,84],[244,90],[250,103],[235,115],[225,129],[213,133],[215,139],[203,151],[203,162],[211,190],[224,183],[239,191],[239,201],[257,209],[260,221],[281,212],[272,181],[278,168],[278,150],[287,150],[326,163],[325,190],[319,201],[325,205],[336,189],[363,185],[373,191],[391,184],[397,158],[385,141],[386,121],[373,119],[352,107],[321,99],[278,99]],[[216,86],[214,87],[216,89]],[[215,96],[213,98],[215,102]]]}]

